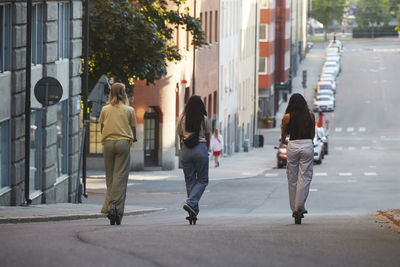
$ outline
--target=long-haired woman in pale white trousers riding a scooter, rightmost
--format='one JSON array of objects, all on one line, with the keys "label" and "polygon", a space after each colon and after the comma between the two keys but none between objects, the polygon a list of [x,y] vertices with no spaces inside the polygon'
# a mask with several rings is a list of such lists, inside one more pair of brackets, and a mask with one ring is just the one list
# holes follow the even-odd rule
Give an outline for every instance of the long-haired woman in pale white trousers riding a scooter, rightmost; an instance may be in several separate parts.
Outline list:
[{"label": "long-haired woman in pale white trousers riding a scooter, rightmost", "polygon": [[281,142],[287,145],[286,174],[289,187],[289,202],[295,223],[307,213],[305,203],[313,175],[315,118],[301,94],[290,97],[281,124]]}]

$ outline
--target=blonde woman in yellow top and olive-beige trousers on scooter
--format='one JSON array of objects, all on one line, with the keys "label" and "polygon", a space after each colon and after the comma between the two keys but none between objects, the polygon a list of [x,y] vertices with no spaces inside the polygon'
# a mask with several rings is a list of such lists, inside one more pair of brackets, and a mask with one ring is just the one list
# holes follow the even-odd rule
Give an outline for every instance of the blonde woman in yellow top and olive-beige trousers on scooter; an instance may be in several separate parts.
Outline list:
[{"label": "blonde woman in yellow top and olive-beige trousers on scooter", "polygon": [[121,224],[131,162],[130,147],[137,141],[135,110],[128,103],[125,85],[112,84],[109,104],[103,107],[99,119],[107,185],[101,212],[107,214],[111,225]]}]

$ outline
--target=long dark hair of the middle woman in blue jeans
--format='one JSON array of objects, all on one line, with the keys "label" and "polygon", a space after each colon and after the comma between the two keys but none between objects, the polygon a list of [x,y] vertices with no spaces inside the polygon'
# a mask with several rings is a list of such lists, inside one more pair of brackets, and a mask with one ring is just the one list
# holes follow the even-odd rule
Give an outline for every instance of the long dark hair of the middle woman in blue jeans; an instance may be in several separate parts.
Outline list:
[{"label": "long dark hair of the middle woman in blue jeans", "polygon": [[192,95],[183,112],[185,115],[185,130],[187,132],[199,131],[204,116],[207,116],[206,108],[200,96]]}]

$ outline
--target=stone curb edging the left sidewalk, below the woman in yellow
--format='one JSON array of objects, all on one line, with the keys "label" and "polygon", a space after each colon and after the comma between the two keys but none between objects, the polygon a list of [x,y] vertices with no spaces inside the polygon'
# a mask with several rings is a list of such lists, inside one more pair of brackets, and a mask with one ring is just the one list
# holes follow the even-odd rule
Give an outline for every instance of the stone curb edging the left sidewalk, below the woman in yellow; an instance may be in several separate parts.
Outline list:
[{"label": "stone curb edging the left sidewalk, below the woman in yellow", "polygon": [[[149,209],[138,210],[124,213],[124,216],[146,215],[154,212],[163,211],[165,209]],[[26,217],[26,218],[6,218],[0,219],[0,224],[18,224],[18,223],[35,223],[35,222],[59,222],[59,221],[75,221],[84,219],[105,218],[104,214],[77,214],[77,215],[55,215],[47,217]]]}]

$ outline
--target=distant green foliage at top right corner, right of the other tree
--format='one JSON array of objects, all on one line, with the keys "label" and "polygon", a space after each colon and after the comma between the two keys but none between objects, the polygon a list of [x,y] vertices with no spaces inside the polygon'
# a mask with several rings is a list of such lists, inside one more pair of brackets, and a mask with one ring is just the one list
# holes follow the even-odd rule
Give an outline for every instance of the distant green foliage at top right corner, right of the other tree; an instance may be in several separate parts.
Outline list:
[{"label": "distant green foliage at top right corner, right of the other tree", "polygon": [[388,25],[391,17],[389,14],[389,0],[358,0],[357,23],[360,28],[370,26]]}]

